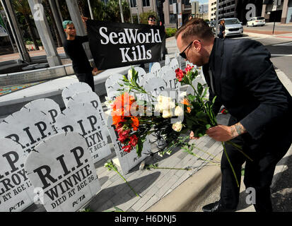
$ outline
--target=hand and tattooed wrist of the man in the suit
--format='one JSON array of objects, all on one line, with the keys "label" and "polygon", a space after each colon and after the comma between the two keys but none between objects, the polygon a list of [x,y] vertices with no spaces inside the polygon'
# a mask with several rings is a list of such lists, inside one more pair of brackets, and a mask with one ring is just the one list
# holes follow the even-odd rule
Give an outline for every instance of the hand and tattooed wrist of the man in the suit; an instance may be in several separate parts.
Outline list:
[{"label": "hand and tattooed wrist of the man in the suit", "polygon": [[246,133],[246,129],[240,122],[234,124],[233,126],[218,125],[211,127],[206,131],[206,134],[215,141],[229,141],[240,134]]}]

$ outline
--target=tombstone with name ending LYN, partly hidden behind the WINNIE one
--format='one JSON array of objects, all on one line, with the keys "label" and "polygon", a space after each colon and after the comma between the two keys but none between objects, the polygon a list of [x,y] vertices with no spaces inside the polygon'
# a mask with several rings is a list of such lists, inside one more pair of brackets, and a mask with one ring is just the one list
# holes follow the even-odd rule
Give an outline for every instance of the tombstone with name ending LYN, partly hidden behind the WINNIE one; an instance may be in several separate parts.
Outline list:
[{"label": "tombstone with name ending LYN, partly hidden behind the WINNIE one", "polygon": [[107,145],[107,126],[103,122],[95,107],[85,103],[64,109],[56,118],[55,127],[57,131],[80,133],[85,138],[88,151],[95,163],[111,153],[110,146]]}]

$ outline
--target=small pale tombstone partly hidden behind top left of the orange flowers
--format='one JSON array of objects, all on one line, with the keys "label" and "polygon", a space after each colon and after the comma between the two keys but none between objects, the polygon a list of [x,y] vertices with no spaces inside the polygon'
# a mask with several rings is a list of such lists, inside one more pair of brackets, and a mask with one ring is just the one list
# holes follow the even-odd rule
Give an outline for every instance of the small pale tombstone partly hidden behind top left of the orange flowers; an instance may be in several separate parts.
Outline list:
[{"label": "small pale tombstone partly hidden behind top left of the orange flowers", "polygon": [[121,79],[124,77],[119,73],[114,73],[111,76],[107,78],[105,81],[105,90],[107,91],[107,97],[111,100],[115,99],[120,93],[118,91],[119,89],[122,89],[122,87],[119,85],[119,83],[123,83]]}]

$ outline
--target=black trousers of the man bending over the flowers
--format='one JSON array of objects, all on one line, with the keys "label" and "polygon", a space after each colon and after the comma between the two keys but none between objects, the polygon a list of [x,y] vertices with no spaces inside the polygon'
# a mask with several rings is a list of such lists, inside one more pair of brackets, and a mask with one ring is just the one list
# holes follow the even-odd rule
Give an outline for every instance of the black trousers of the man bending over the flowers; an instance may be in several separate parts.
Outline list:
[{"label": "black trousers of the man bending over the flowers", "polygon": [[[229,125],[235,124],[234,118],[230,118]],[[276,132],[275,132],[276,133]],[[285,134],[285,133],[284,133]],[[238,183],[240,185],[241,167],[245,163],[245,177],[243,182],[245,188],[252,187],[255,189],[255,210],[257,212],[271,212],[271,192],[270,186],[274,176],[274,170],[277,162],[286,154],[291,145],[290,140],[279,138],[274,141],[261,141],[259,143],[251,142],[248,133],[245,133],[233,139],[233,143],[237,143],[243,147],[243,151],[252,159],[248,160],[233,145],[226,144],[226,153],[235,170]],[[221,158],[221,204],[223,207],[235,209],[238,206],[240,186],[236,184],[236,180],[226,154],[223,153]]]}]

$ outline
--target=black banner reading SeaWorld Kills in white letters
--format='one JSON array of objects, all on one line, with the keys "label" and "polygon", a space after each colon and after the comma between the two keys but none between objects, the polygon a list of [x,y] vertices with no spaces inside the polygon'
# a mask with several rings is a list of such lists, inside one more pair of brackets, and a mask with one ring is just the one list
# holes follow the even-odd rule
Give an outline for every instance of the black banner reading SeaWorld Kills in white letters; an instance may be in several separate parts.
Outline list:
[{"label": "black banner reading SeaWorld Kills in white letters", "polygon": [[98,70],[160,61],[163,26],[87,20],[90,51]]}]

